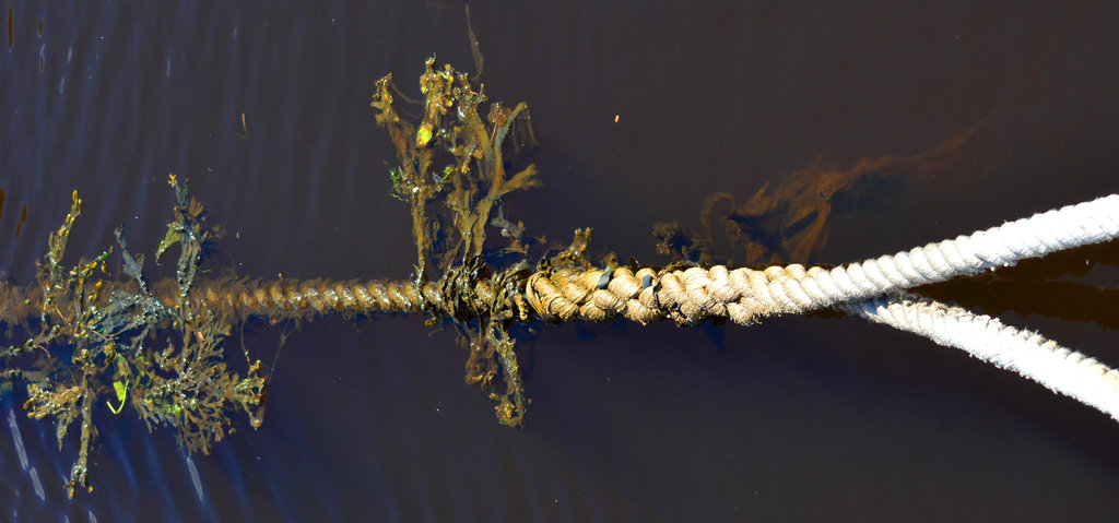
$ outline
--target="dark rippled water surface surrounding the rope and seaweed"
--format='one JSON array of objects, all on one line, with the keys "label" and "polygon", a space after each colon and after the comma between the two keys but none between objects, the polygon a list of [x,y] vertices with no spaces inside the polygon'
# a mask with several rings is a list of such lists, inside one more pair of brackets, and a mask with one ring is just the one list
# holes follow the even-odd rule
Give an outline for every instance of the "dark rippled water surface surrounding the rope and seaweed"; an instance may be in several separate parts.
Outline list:
[{"label": "dark rippled water surface surrounding the rope and seaweed", "polygon": [[[410,221],[388,197],[393,151],[369,96],[388,72],[413,86],[432,53],[470,68],[461,3],[313,3],[12,2],[0,268],[31,279],[73,189],[86,212],[68,251],[100,253],[121,222],[131,245],[154,246],[176,173],[225,224],[219,255],[239,274],[407,276]],[[974,170],[837,213],[815,260],[1119,190],[1119,10],[972,3],[471,2],[487,89],[528,102],[540,142],[546,188],[507,211],[549,238],[592,226],[594,248],[662,262],[651,225],[696,224],[711,192],[745,199],[817,161],[910,155],[980,123],[961,153]],[[1113,331],[1005,317],[1119,363]],[[1087,521],[1119,508],[1115,421],[858,320],[543,326],[518,343],[525,430],[495,421],[462,384],[452,334],[430,331],[419,317],[304,324],[263,428],[191,458],[200,489],[170,434],[104,411],[95,491],[68,501],[76,438],[59,454],[53,427],[17,410],[28,467],[0,438],[0,506],[13,521],[102,522]],[[251,325],[245,341],[270,351],[278,333]],[[7,401],[6,420],[22,399]]]}]

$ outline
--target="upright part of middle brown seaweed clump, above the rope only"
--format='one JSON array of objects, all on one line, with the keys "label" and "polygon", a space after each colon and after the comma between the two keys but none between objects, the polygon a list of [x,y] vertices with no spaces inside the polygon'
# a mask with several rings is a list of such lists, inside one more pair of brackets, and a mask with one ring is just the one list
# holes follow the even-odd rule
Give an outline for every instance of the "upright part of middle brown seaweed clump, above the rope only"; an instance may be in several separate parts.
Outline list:
[{"label": "upright part of middle brown seaweed clump, above the rope only", "polygon": [[[485,85],[476,91],[469,75],[449,64],[436,67],[434,57],[420,77],[423,108],[417,124],[401,117],[394,92],[399,89],[389,74],[377,82],[370,105],[401,161],[389,170],[389,179],[393,197],[412,211],[416,279],[425,279],[430,267],[445,273],[455,263],[482,256],[487,226],[505,231],[509,248],[523,253],[520,230],[499,212],[499,202],[509,192],[539,186],[533,164],[511,177],[506,172],[506,149],[516,153],[536,143],[528,105],[521,102],[510,110],[495,102],[483,118],[479,110],[488,99]],[[441,207],[433,211],[434,203]]]}]

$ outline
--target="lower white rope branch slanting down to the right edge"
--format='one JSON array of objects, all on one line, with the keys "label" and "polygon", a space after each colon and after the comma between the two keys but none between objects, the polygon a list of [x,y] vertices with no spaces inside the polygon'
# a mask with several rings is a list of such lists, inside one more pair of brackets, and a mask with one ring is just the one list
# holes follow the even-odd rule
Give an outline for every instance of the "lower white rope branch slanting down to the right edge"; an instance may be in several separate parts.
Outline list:
[{"label": "lower white rope branch slanting down to the right edge", "polygon": [[867,299],[840,308],[962,349],[1119,420],[1119,371],[1041,334],[918,296]]}]

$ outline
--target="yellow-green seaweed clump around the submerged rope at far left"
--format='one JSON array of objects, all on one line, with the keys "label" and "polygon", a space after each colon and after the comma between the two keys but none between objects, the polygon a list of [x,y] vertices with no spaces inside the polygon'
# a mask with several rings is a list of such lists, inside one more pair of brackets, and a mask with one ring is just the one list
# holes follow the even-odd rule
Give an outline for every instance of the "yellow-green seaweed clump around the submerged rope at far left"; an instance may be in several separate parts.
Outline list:
[{"label": "yellow-green seaweed clump around the submerged rope at far left", "polygon": [[[39,332],[0,353],[4,386],[28,383],[25,408],[31,418],[55,420],[59,448],[70,426],[79,421],[78,458],[66,484],[70,495],[77,486],[93,489],[88,456],[96,437],[93,412],[101,409],[101,401],[114,415],[131,407],[149,429],[173,428],[181,447],[204,454],[234,431],[229,411],[246,412],[254,428],[261,424],[265,397],[261,362],[248,361],[245,377],[232,371],[225,358],[227,320],[189,298],[215,230],[206,227],[203,206],[175,175],[170,184],[177,197],[175,218],[156,256],[158,260],[179,246],[173,280],[149,284],[144,257],[129,251],[121,228],[116,241],[126,280],[97,278],[107,275],[105,260],[112,248],[93,260],[63,265],[70,230],[82,212],[75,191],[63,226],[50,235],[48,253],[38,264],[38,292],[21,294],[22,312],[38,311]],[[11,322],[12,316],[6,316]],[[168,331],[176,335],[166,345],[153,341],[156,332]]]}]

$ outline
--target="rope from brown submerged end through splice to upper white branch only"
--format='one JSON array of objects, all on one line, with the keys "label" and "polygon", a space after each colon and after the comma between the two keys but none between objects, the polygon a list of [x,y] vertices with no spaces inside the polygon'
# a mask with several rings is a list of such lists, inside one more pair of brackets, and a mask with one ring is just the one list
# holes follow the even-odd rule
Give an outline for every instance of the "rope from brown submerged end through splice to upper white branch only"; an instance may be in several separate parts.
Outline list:
[{"label": "rope from brown submerged end through splice to upper white branch only", "polygon": [[[431,312],[452,317],[505,311],[510,318],[603,321],[623,316],[647,324],[670,318],[694,324],[728,317],[752,324],[774,314],[806,313],[897,293],[956,276],[1119,236],[1119,194],[1034,215],[999,227],[835,268],[801,265],[761,270],[562,267],[527,277],[452,270],[440,282],[247,280],[200,282],[191,299],[228,317]],[[128,284],[123,284],[128,285]],[[171,302],[170,285],[152,292]],[[0,285],[6,320],[39,305],[37,288]],[[498,292],[501,291],[501,292]],[[110,293],[103,293],[105,295]]]}]

